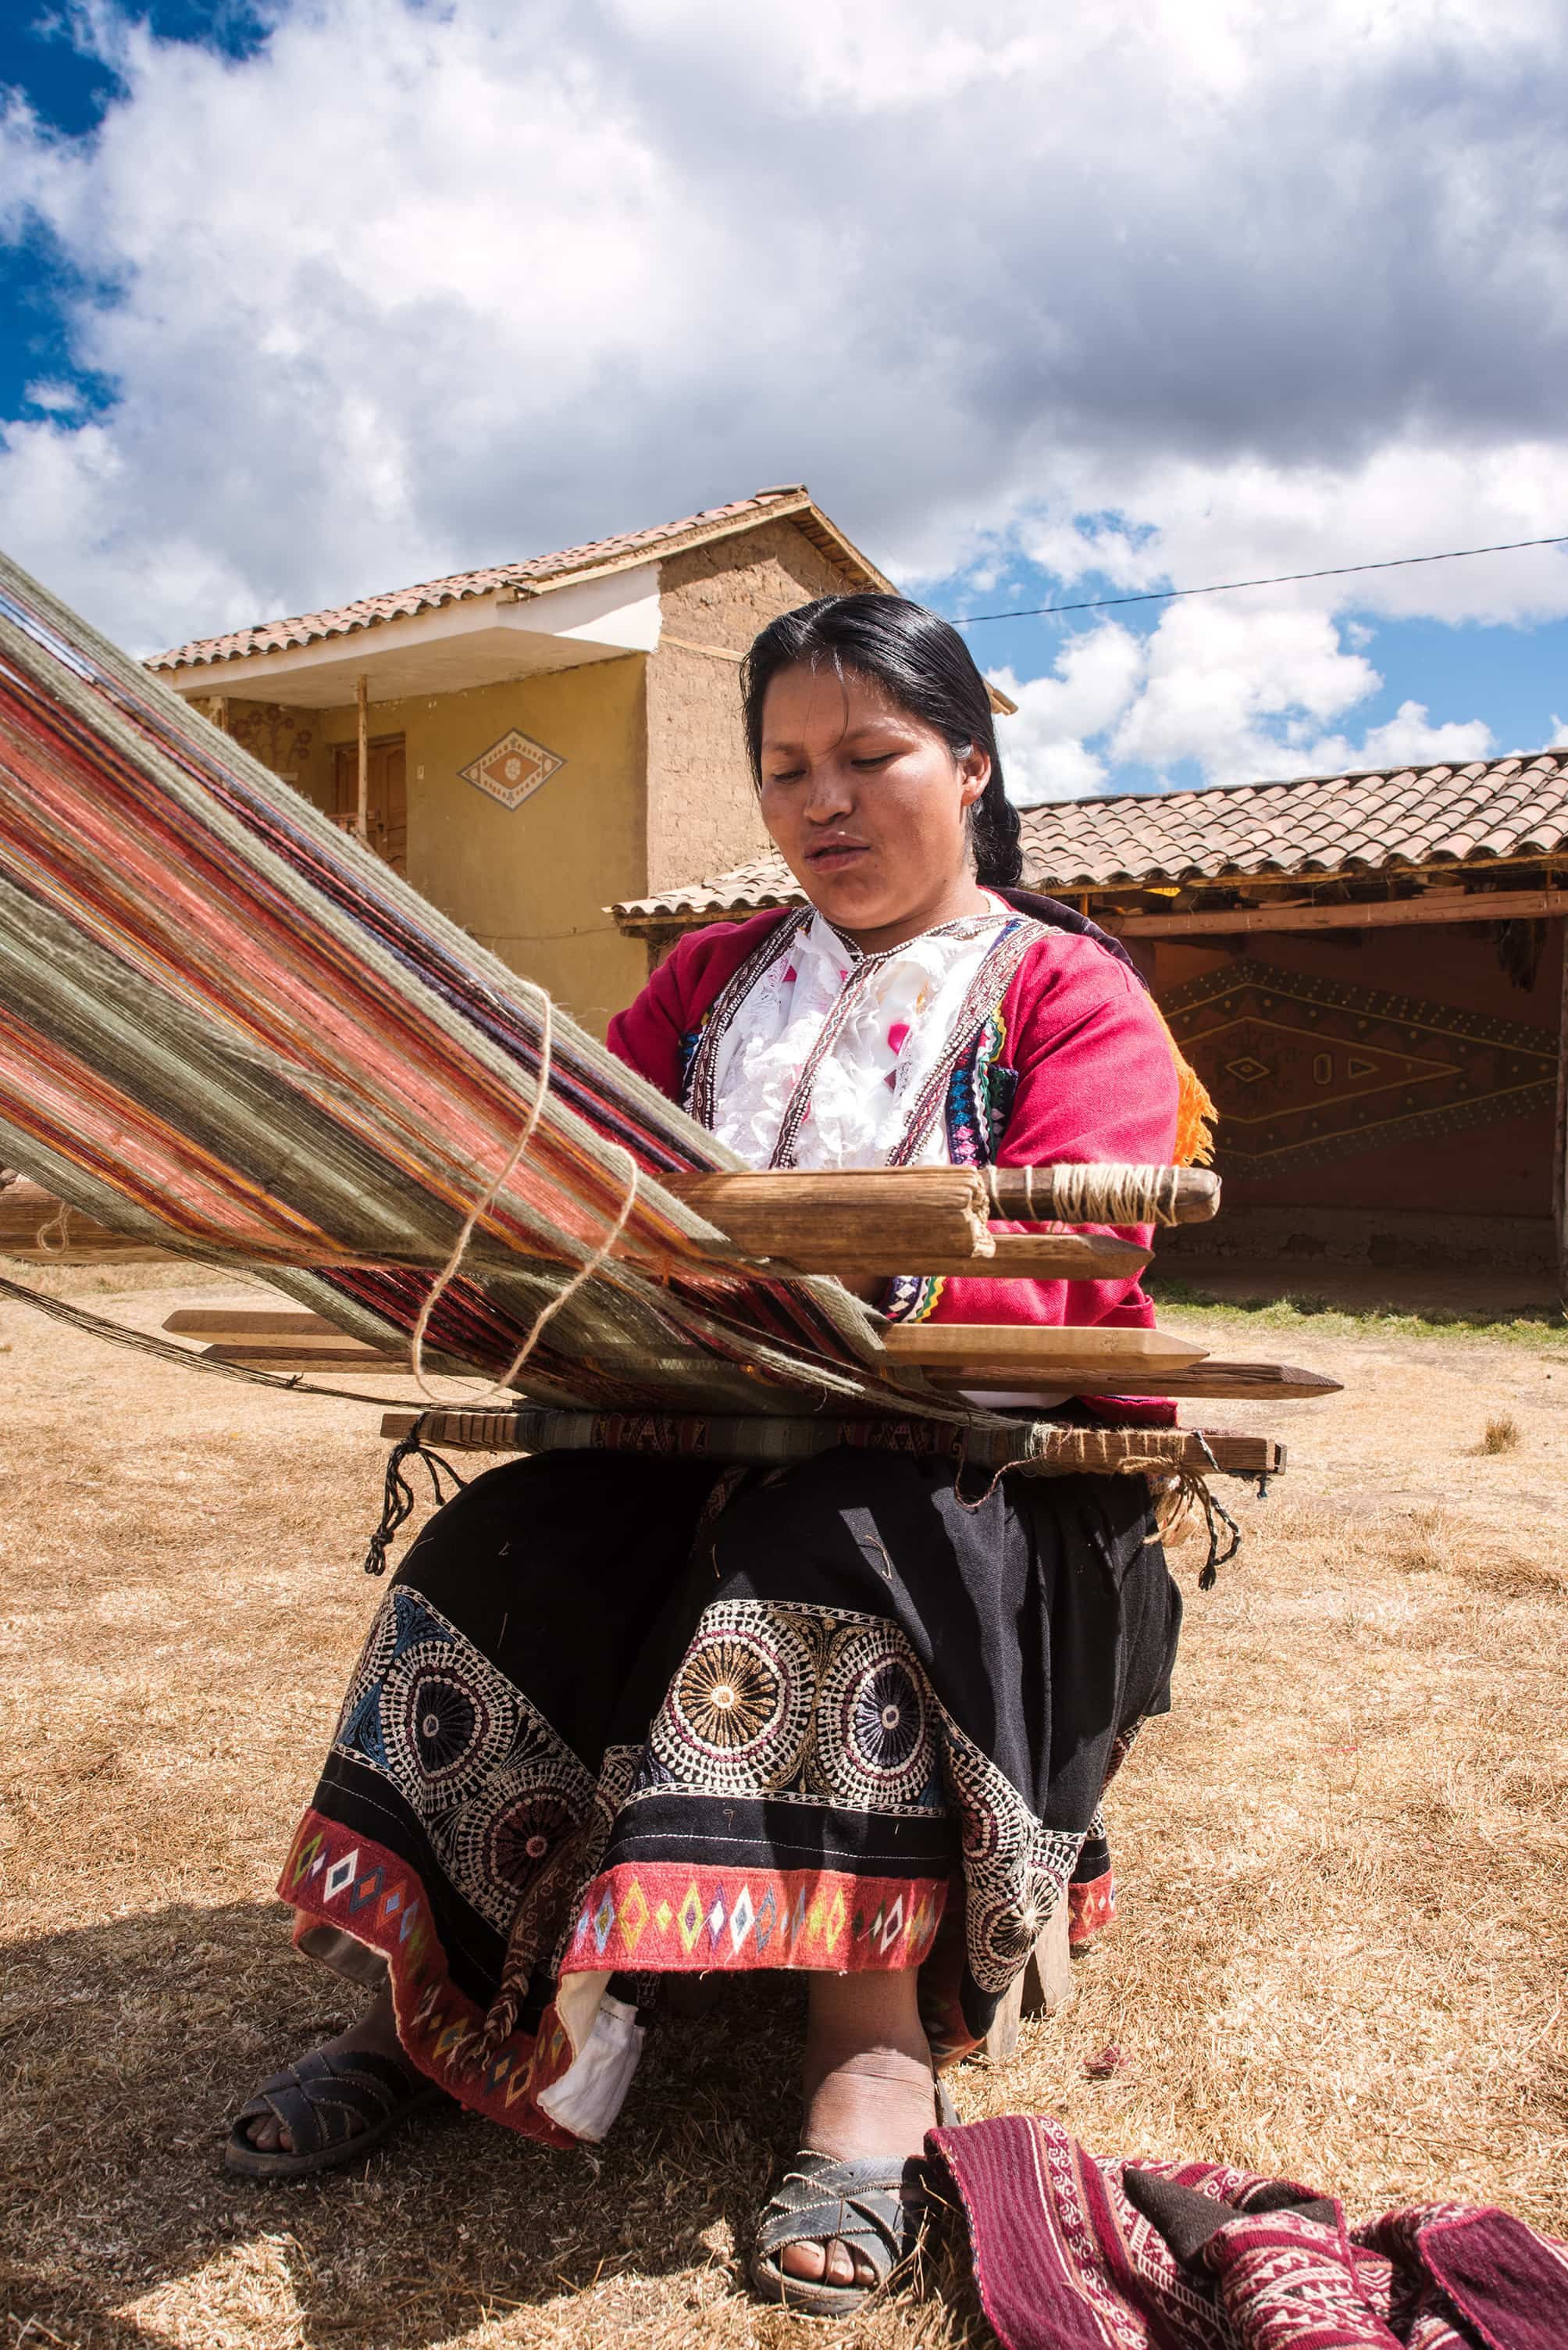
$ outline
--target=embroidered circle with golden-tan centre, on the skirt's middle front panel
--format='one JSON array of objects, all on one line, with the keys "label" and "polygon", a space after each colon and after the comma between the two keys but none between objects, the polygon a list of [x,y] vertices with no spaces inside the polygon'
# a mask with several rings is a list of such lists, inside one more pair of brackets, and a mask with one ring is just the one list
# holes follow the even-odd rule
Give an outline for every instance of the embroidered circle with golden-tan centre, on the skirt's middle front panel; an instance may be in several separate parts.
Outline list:
[{"label": "embroidered circle with golden-tan centre, on the skirt's middle front panel", "polygon": [[763,1793],[800,1755],[812,1713],[810,1650],[761,1607],[711,1607],[653,1725],[657,1760],[685,1784]]}]

